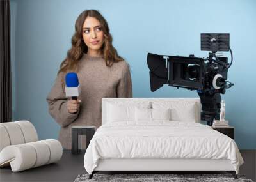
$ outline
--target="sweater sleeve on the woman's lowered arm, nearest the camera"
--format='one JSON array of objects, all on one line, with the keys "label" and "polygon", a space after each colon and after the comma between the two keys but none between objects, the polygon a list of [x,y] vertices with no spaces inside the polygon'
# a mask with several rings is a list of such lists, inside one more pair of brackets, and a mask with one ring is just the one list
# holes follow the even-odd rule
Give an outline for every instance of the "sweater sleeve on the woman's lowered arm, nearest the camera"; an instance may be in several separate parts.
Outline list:
[{"label": "sweater sleeve on the woman's lowered arm, nearest the camera", "polygon": [[118,82],[116,93],[118,98],[131,98],[132,97],[132,80],[129,69],[129,64],[125,64],[122,70],[122,77]]}]

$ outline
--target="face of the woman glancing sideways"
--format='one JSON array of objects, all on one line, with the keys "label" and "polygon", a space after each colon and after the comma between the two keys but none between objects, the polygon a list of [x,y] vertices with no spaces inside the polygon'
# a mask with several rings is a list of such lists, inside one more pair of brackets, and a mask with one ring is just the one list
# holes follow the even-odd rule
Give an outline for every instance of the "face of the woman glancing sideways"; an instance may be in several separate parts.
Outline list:
[{"label": "face of the woman glancing sideways", "polygon": [[104,33],[99,20],[94,17],[87,17],[83,24],[83,40],[88,51],[99,51],[104,43]]}]

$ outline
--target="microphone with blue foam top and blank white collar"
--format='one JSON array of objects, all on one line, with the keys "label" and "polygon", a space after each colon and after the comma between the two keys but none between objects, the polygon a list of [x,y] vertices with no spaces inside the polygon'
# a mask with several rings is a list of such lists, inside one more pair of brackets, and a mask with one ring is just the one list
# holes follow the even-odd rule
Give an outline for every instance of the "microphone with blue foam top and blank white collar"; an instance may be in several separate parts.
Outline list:
[{"label": "microphone with blue foam top and blank white collar", "polygon": [[72,100],[77,100],[79,96],[79,82],[77,74],[74,72],[67,73],[65,77],[66,87],[65,92],[67,97],[71,97]]}]

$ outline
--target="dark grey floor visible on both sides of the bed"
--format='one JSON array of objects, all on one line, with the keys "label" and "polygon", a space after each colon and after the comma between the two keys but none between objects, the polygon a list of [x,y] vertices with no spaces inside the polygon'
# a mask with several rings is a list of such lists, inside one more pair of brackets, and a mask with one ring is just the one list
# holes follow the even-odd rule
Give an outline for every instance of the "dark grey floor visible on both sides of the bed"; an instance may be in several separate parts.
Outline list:
[{"label": "dark grey floor visible on both sides of the bed", "polygon": [[[244,164],[239,174],[246,178],[256,179],[256,150],[241,150]],[[12,172],[10,167],[0,169],[0,181],[74,181],[78,174],[86,173],[83,165],[84,153],[72,155],[63,151],[61,160],[57,163],[44,165],[21,172]]]}]

